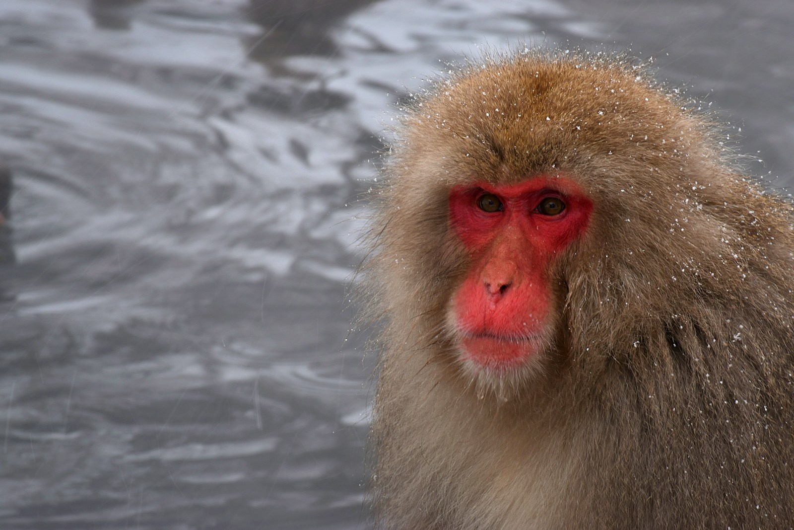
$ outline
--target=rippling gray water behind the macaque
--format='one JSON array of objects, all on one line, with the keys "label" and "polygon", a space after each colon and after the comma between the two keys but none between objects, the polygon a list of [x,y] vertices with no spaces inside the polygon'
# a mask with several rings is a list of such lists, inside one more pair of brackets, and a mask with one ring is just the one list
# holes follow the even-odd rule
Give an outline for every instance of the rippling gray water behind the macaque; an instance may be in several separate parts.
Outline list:
[{"label": "rippling gray water behind the macaque", "polygon": [[395,103],[483,44],[630,48],[786,188],[792,27],[790,0],[0,0],[0,528],[365,528],[346,293]]}]

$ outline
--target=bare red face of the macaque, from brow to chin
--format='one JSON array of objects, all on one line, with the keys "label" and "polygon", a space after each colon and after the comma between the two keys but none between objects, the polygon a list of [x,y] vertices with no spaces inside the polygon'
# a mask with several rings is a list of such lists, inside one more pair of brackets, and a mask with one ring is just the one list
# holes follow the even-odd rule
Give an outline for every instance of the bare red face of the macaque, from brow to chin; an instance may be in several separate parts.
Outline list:
[{"label": "bare red face of the macaque, from brow to chin", "polygon": [[453,188],[450,219],[472,255],[450,315],[464,360],[517,368],[549,341],[549,265],[587,230],[590,211],[592,202],[561,177]]}]

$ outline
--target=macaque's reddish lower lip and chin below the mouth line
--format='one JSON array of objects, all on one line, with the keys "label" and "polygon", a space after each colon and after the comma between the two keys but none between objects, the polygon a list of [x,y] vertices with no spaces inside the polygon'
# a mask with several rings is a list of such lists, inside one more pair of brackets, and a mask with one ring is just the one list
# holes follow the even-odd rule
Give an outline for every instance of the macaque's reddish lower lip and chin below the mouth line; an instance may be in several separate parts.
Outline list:
[{"label": "macaque's reddish lower lip and chin below the mouth line", "polygon": [[540,342],[535,335],[467,333],[461,339],[461,352],[480,366],[505,369],[520,366],[538,353]]}]

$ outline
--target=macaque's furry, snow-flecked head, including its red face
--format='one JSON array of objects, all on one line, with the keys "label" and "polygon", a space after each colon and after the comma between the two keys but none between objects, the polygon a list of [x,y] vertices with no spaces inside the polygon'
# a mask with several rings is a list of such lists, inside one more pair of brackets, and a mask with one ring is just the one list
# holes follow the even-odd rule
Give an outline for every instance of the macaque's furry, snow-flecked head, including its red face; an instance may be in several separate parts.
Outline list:
[{"label": "macaque's furry, snow-flecked head, including its red face", "polygon": [[437,83],[381,190],[391,343],[484,385],[596,385],[669,365],[684,335],[711,340],[729,304],[772,311],[784,295],[734,285],[765,282],[748,271],[784,251],[785,222],[760,221],[780,203],[695,114],[614,56],[533,52]]}]

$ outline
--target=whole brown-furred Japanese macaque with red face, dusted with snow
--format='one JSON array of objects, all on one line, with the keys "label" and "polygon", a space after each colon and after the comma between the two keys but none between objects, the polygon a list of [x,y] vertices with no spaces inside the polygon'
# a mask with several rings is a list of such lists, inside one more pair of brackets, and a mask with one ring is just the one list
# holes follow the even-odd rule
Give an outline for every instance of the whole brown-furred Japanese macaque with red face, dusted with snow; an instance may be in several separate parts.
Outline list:
[{"label": "whole brown-furred Japanese macaque with red face, dusted with snow", "polygon": [[642,65],[439,81],[376,190],[379,528],[792,528],[792,204]]}]

